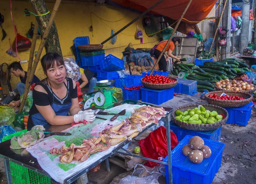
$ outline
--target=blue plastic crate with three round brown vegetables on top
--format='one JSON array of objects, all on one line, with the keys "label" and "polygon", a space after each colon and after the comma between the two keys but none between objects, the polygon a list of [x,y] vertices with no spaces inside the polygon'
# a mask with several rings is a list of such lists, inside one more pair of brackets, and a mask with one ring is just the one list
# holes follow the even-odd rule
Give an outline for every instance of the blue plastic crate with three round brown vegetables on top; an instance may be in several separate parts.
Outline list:
[{"label": "blue plastic crate with three round brown vegetables on top", "polygon": [[[189,144],[192,136],[184,139],[172,150],[172,178],[173,184],[211,184],[215,173],[221,167],[221,157],[225,144],[204,139],[204,144],[212,150],[212,155],[204,159],[200,164],[193,164],[182,153],[182,147]],[[168,156],[163,159],[168,162]],[[169,183],[168,165],[166,167],[166,183]]]}]

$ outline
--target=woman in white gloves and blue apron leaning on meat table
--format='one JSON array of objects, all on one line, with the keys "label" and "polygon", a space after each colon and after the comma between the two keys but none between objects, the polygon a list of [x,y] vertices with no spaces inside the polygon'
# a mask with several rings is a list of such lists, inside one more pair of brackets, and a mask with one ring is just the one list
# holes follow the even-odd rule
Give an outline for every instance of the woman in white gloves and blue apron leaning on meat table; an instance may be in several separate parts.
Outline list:
[{"label": "woman in white gloves and blue apron leaning on meat table", "polygon": [[66,77],[63,58],[57,53],[48,53],[41,59],[41,64],[47,78],[33,89],[28,130],[35,125],[67,125],[84,120],[94,121],[94,113],[90,110],[81,111],[79,108],[76,82]]}]

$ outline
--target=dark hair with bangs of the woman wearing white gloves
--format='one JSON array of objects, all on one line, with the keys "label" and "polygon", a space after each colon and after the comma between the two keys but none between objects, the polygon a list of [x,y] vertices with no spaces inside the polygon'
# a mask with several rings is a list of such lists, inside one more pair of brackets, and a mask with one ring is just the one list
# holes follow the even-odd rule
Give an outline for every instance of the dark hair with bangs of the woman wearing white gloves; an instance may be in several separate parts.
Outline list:
[{"label": "dark hair with bangs of the woman wearing white gloves", "polygon": [[44,55],[44,57],[42,57],[41,65],[43,67],[45,74],[49,68],[54,67],[55,62],[57,64],[57,66],[60,66],[60,65],[65,66],[63,58],[57,53],[47,53]]}]

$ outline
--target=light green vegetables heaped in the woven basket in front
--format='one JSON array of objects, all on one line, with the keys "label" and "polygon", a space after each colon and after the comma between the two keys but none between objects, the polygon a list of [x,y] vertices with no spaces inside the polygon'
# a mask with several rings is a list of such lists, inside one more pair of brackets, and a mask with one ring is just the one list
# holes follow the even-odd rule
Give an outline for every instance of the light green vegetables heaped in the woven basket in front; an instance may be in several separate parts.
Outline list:
[{"label": "light green vegetables heaped in the woven basket in front", "polygon": [[215,110],[211,112],[202,105],[198,106],[198,108],[185,110],[184,112],[176,110],[175,115],[175,119],[191,124],[213,124],[224,118],[223,113],[218,114]]}]

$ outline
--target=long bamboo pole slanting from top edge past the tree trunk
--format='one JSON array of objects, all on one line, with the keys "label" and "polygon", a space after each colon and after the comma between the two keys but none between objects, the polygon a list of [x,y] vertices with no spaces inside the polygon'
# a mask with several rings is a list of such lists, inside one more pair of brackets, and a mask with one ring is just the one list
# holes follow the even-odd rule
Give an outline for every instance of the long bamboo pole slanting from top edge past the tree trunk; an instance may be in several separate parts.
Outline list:
[{"label": "long bamboo pole slanting from top edge past the tree trunk", "polygon": [[[35,74],[36,67],[37,67],[37,65],[38,65],[38,62],[39,62],[39,59],[40,59],[40,57],[41,57],[42,51],[43,51],[43,49],[44,49],[45,41],[46,41],[46,39],[47,39],[47,37],[48,37],[49,31],[50,31],[50,29],[51,29],[51,27],[52,27],[53,20],[54,20],[54,18],[55,18],[55,15],[57,14],[57,11],[58,11],[58,8],[59,8],[60,4],[61,4],[61,0],[56,0],[56,1],[55,1],[54,7],[53,7],[53,9],[52,9],[51,17],[50,17],[50,19],[49,19],[49,22],[48,22],[47,27],[45,28],[44,35],[43,35],[42,40],[41,40],[41,43],[40,43],[40,45],[39,45],[39,48],[38,48],[38,51],[37,51],[37,55],[36,55],[36,57],[35,57],[35,61],[34,61],[34,64],[33,64],[33,66],[32,66],[30,75],[27,76],[27,77],[29,77],[29,82],[28,82],[28,84],[25,86],[25,92],[24,92],[23,96],[27,96],[28,93],[29,93],[29,87],[30,87],[29,84],[31,84],[31,82],[32,82],[33,76],[34,76],[34,74]],[[25,103],[25,102],[24,102],[24,103]],[[23,105],[23,106],[24,106],[24,105]],[[23,107],[21,107],[21,105],[20,105],[19,112],[21,112],[22,109],[23,109]]]}]

